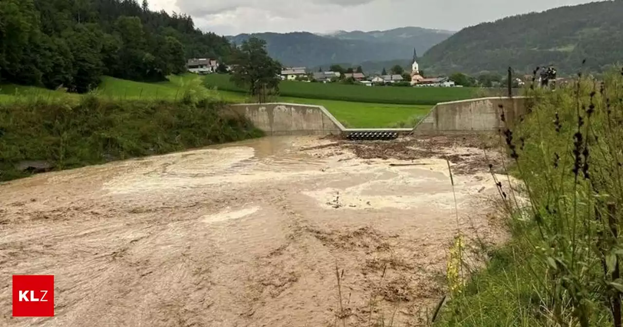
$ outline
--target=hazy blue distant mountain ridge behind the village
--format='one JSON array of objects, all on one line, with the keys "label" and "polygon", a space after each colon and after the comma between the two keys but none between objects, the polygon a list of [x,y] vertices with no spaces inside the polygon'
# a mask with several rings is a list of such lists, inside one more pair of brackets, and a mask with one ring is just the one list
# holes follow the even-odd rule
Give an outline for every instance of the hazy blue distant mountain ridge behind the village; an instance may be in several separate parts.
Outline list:
[{"label": "hazy blue distant mountain ridge behind the village", "polygon": [[227,36],[240,44],[250,36],[267,42],[269,55],[283,65],[318,67],[335,63],[359,64],[410,59],[415,48],[424,54],[454,32],[422,27],[400,27],[388,31],[337,31],[330,34],[310,32],[255,33]]}]

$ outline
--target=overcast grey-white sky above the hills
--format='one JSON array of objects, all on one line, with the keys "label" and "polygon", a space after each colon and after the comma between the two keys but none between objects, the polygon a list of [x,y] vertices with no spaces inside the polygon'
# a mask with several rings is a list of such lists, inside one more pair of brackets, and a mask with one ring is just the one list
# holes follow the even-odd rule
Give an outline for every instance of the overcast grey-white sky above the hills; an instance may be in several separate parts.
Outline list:
[{"label": "overcast grey-white sky above the hills", "polygon": [[419,26],[459,31],[480,22],[590,0],[148,0],[152,10],[190,14],[221,35],[374,31]]}]

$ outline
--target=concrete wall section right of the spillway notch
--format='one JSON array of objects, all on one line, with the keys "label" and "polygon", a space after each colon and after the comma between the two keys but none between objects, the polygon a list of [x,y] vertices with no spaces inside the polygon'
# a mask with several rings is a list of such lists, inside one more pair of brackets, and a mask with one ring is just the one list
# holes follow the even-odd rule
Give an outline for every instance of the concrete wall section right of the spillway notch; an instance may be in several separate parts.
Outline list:
[{"label": "concrete wall section right of the spillway notch", "polygon": [[[502,105],[502,107],[500,107]],[[437,103],[414,128],[414,134],[492,131],[526,112],[525,97],[490,97]]]}]

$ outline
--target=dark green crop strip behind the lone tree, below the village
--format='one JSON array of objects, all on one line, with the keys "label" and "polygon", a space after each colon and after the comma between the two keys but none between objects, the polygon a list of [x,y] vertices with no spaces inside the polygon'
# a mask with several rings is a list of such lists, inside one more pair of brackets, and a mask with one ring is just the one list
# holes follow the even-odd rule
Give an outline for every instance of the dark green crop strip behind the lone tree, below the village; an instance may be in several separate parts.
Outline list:
[{"label": "dark green crop strip behind the lone tree, below the village", "polygon": [[[247,92],[229,80],[230,75],[209,74],[208,88]],[[282,81],[280,95],[292,98],[312,98],[338,101],[392,103],[398,105],[435,105],[439,102],[465,100],[477,96],[479,88],[471,87],[366,87],[340,83],[305,83]]]}]

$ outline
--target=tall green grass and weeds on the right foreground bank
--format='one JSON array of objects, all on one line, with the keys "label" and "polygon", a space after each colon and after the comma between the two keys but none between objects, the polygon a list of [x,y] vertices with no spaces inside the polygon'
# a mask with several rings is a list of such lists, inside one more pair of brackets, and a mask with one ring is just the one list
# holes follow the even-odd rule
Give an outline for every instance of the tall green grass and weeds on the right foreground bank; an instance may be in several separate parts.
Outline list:
[{"label": "tall green grass and weeds on the right foreground bank", "polygon": [[522,181],[500,181],[511,239],[483,247],[487,268],[450,292],[438,326],[621,326],[623,77],[603,82],[538,91],[503,136]]}]

